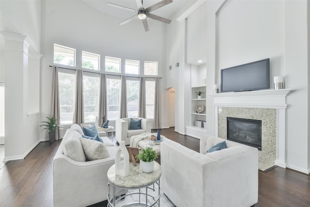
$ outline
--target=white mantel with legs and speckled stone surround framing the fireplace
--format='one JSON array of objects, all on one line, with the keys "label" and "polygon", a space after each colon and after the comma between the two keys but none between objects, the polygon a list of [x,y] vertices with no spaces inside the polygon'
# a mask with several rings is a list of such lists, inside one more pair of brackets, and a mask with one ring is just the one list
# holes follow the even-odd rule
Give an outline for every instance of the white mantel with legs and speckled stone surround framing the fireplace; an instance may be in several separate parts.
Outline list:
[{"label": "white mantel with legs and speckled stone surround framing the fireplace", "polygon": [[[221,137],[219,134],[219,118],[222,119],[221,111],[226,108],[237,108],[234,109],[233,113],[240,114],[240,108],[243,108],[247,113],[257,114],[260,113],[259,109],[275,109],[276,111],[276,142],[275,142],[275,158],[273,155],[269,158],[269,163],[262,164],[261,170],[266,170],[265,168],[270,165],[270,159],[274,160],[274,165],[286,168],[285,161],[285,109],[287,108],[286,96],[291,92],[291,89],[280,89],[280,90],[260,90],[260,91],[245,91],[245,92],[229,92],[229,93],[219,93],[219,94],[210,94],[213,97],[213,105],[215,107],[215,134],[218,137]],[[220,111],[219,111],[220,110]],[[264,110],[263,110],[264,111]],[[274,110],[273,110],[274,111]],[[270,112],[270,111],[269,111]],[[226,113],[226,112],[225,112]],[[244,118],[244,117],[237,117]],[[226,119],[226,117],[225,117]],[[256,119],[256,118],[251,118]],[[226,121],[225,121],[226,123]],[[262,131],[263,132],[263,131]],[[222,132],[220,132],[222,133]],[[226,138],[222,136],[222,138]],[[263,141],[262,141],[263,142]],[[267,141],[270,142],[270,141]],[[269,151],[272,149],[269,149]],[[268,155],[263,155],[263,157]],[[268,159],[267,159],[268,160]],[[273,160],[272,160],[273,162]]]}]

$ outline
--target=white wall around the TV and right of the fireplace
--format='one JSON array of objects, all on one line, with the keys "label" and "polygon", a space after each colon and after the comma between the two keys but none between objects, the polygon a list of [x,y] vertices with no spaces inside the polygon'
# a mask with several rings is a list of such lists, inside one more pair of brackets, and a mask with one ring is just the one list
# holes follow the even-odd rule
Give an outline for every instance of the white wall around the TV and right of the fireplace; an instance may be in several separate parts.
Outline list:
[{"label": "white wall around the TV and right of the fireplace", "polygon": [[[212,87],[213,68],[214,81],[219,84],[220,69],[270,58],[270,88],[273,76],[281,75],[285,77],[285,87],[295,90],[287,97],[286,163],[307,173],[310,150],[307,1],[229,0],[221,8],[223,2],[207,1],[207,91]],[[207,98],[207,122],[212,123],[215,119],[210,99]],[[215,126],[207,126],[207,133],[214,134]]]}]

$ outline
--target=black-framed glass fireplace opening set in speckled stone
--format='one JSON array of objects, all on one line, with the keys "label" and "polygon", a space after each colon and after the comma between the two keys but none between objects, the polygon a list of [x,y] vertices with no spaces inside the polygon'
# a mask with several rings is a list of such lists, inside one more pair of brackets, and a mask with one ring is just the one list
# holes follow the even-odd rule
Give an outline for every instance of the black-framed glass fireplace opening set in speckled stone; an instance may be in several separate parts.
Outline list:
[{"label": "black-framed glass fireplace opening set in speckled stone", "polygon": [[262,150],[262,120],[227,117],[227,140]]}]

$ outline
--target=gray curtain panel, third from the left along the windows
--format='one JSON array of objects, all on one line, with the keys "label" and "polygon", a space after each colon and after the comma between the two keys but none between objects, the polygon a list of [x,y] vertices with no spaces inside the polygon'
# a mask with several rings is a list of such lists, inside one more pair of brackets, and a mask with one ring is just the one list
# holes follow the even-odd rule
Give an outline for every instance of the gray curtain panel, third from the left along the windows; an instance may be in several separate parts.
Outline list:
[{"label": "gray curtain panel, third from the left along the windows", "polygon": [[99,111],[98,111],[98,125],[102,125],[102,117],[107,117],[108,113],[108,102],[107,102],[107,76],[104,73],[100,74],[100,92],[99,92]]}]

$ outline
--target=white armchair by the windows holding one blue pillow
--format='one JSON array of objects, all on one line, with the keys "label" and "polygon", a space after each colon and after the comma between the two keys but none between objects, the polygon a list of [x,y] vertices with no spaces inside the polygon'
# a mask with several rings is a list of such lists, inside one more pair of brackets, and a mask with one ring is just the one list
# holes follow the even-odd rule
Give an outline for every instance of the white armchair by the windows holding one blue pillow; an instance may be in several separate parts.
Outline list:
[{"label": "white armchair by the windows holding one blue pillow", "polygon": [[135,121],[141,119],[141,129],[129,129],[130,118],[116,119],[115,139],[118,143],[124,141],[126,145],[130,144],[130,137],[142,133],[151,133],[151,120],[144,118],[132,118]]}]

